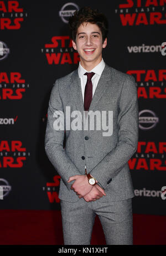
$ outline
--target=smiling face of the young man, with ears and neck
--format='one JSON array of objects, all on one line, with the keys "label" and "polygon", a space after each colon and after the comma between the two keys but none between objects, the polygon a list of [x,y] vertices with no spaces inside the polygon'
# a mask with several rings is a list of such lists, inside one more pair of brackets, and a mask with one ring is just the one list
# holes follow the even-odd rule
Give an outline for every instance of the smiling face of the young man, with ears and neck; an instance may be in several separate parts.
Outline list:
[{"label": "smiling face of the young man, with ears and neck", "polygon": [[77,29],[76,42],[72,47],[80,55],[80,63],[90,71],[102,60],[102,48],[107,45],[107,38],[102,43],[102,33],[98,25],[89,22],[82,23]]}]

